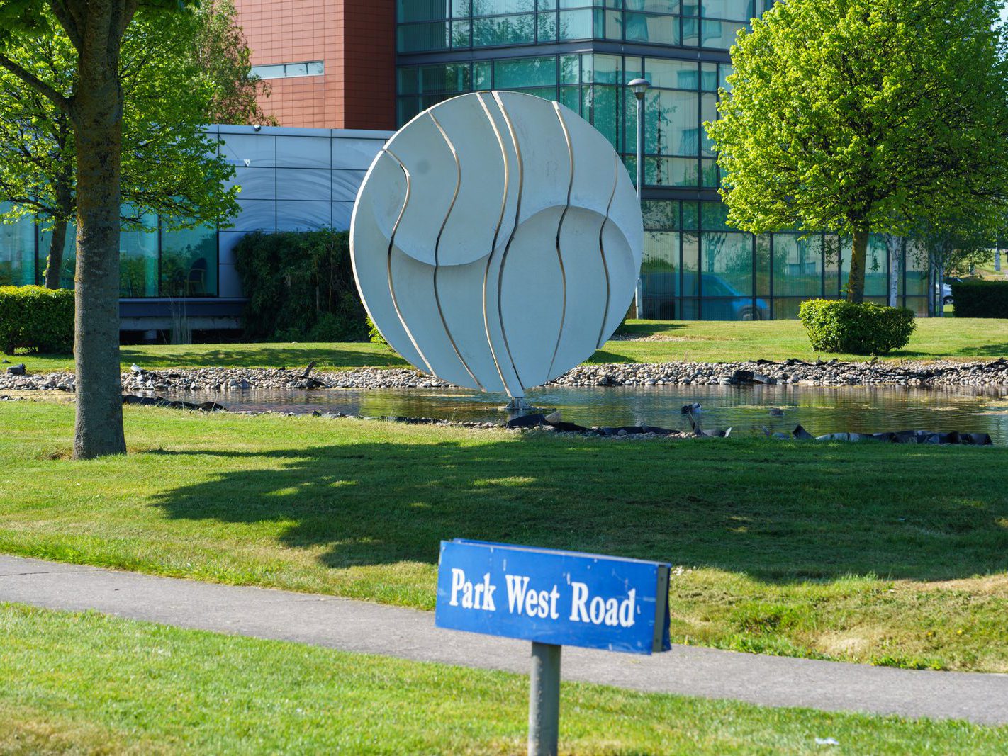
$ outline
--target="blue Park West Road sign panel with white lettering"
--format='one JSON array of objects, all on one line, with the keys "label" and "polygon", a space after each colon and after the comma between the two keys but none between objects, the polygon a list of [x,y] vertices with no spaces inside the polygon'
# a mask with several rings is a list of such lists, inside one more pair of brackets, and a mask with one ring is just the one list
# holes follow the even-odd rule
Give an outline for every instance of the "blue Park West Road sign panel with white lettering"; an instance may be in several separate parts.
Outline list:
[{"label": "blue Park West Road sign panel with white lettering", "polygon": [[552,645],[667,651],[668,571],[657,561],[442,541],[434,624]]}]

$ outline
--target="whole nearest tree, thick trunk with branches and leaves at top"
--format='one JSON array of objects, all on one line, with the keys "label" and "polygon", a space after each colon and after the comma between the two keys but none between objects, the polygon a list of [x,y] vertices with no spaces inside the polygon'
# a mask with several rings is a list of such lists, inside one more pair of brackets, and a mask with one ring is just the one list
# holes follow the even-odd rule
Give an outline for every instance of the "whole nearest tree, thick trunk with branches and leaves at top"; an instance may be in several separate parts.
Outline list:
[{"label": "whole nearest tree, thick trunk with branches and leaves at top", "polygon": [[[0,0],[0,67],[65,113],[77,175],[75,459],[126,452],[119,376],[119,232],[125,90],[122,42],[137,15],[191,12],[191,0]],[[48,12],[46,12],[48,11]],[[54,20],[53,20],[54,19]],[[69,91],[11,52],[57,30],[74,47]]]}]

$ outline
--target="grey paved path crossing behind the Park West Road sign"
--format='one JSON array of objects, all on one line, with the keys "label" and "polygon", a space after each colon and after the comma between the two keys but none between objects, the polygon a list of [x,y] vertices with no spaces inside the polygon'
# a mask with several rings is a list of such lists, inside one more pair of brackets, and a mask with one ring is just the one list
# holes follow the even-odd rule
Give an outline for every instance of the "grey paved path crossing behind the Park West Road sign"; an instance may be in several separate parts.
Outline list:
[{"label": "grey paved path crossing behind the Park West Road sign", "polygon": [[[0,601],[527,673],[525,641],[439,630],[433,614],[331,596],[0,555]],[[3,639],[0,638],[0,644]],[[1008,674],[932,672],[673,646],[635,656],[563,649],[563,679],[773,707],[1008,724]]]}]

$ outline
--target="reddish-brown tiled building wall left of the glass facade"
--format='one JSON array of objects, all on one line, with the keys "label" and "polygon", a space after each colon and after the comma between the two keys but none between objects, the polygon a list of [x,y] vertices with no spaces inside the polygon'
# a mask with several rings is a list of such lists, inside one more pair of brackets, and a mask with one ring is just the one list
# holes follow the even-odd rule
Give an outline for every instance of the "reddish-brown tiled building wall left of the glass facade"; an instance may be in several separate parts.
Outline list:
[{"label": "reddish-brown tiled building wall left of the glass facade", "polygon": [[252,65],[323,60],[314,77],[270,79],[281,126],[395,128],[394,0],[236,0]]}]

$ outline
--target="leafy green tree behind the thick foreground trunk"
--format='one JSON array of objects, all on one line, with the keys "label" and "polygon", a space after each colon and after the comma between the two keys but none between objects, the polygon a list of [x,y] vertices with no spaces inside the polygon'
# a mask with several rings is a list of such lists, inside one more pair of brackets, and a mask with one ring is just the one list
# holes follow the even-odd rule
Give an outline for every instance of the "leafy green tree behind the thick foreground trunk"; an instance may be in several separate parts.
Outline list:
[{"label": "leafy green tree behind the thick foreground trunk", "polygon": [[[122,199],[129,212],[122,221],[127,227],[141,226],[150,213],[178,228],[218,223],[237,211],[233,191],[222,188],[233,169],[217,156],[204,124],[222,103],[246,115],[254,115],[257,106],[254,82],[249,92],[243,81],[226,81],[240,80],[240,67],[214,64],[238,54],[233,45],[240,30],[230,25],[227,6],[222,8],[210,6],[181,18],[151,15],[132,24],[123,37]],[[194,56],[194,48],[201,55]],[[33,39],[8,54],[69,95],[77,61],[66,34]],[[0,96],[0,199],[13,205],[0,221],[31,214],[51,227],[44,277],[48,288],[58,288],[67,228],[77,213],[71,119],[3,69]]]}]

